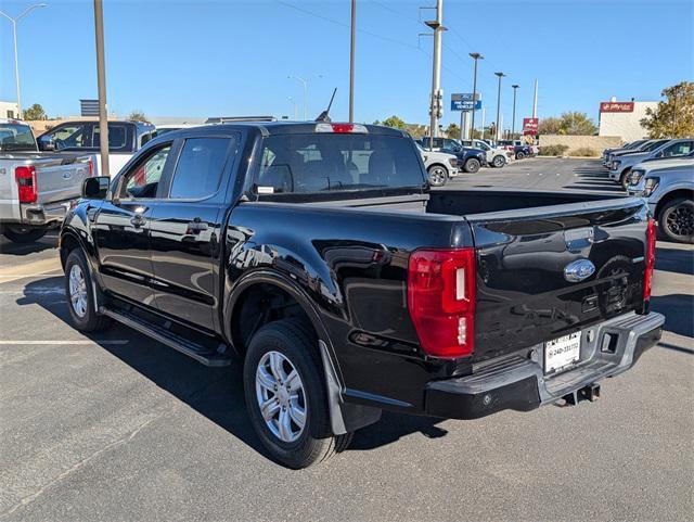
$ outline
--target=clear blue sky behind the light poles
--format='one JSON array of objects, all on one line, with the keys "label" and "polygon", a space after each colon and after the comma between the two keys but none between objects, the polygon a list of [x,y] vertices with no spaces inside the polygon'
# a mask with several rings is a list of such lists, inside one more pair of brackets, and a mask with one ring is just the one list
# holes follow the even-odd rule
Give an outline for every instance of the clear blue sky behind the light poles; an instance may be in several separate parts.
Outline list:
[{"label": "clear blue sky behind the light poles", "polygon": [[[91,1],[46,0],[18,24],[23,104],[49,115],[75,115],[80,98],[95,98]],[[0,1],[18,14],[35,1]],[[347,118],[349,0],[116,1],[105,0],[110,109],[149,116],[303,114],[338,88],[333,119]],[[397,114],[427,122],[432,38],[420,5],[434,0],[359,0],[356,119]],[[433,16],[422,11],[422,18]],[[444,71],[447,111],[452,92],[472,91],[472,60],[481,52],[478,90],[487,122],[496,113],[503,71],[502,112],[511,118],[511,85],[518,84],[517,119],[529,116],[539,80],[538,115],[582,111],[596,119],[599,102],[657,100],[664,87],[694,78],[691,1],[445,0]],[[0,18],[0,100],[15,99],[11,24]],[[477,116],[478,118],[480,116]],[[505,125],[504,125],[505,126]]]}]

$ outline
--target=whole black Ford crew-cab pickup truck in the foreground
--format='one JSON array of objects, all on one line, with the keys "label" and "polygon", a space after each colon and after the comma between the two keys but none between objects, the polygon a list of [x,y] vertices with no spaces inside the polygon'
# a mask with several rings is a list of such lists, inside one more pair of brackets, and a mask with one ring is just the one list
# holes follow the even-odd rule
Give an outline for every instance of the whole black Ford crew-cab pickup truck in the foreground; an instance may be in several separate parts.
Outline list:
[{"label": "whole black Ford crew-cab pickup truck in the foreground", "polygon": [[75,327],[115,319],[205,365],[243,358],[253,425],[291,468],[382,410],[594,399],[660,336],[642,200],[429,191],[396,129],[168,132],[82,192],[60,239]]}]

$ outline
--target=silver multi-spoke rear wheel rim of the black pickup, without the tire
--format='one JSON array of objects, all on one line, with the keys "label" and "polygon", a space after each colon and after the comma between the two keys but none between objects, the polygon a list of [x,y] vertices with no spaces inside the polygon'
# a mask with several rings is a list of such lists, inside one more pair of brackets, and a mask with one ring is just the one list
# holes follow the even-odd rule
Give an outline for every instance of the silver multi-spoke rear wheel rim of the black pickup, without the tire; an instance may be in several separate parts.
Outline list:
[{"label": "silver multi-spoke rear wheel rim of the black pickup, without the tire", "polygon": [[285,443],[296,441],[306,426],[304,383],[290,359],[268,352],[256,369],[256,399],[266,425]]}]

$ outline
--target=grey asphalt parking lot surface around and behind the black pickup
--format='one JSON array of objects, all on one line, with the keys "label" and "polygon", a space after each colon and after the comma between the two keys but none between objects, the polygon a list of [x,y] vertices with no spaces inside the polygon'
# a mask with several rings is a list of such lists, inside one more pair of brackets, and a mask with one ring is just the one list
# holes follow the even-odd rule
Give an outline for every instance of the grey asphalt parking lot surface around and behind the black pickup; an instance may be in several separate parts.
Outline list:
[{"label": "grey asphalt parking lot surface around and behind the black pickup", "polygon": [[[447,188],[620,193],[597,161],[534,158]],[[241,365],[209,369],[120,326],[67,323],[55,234],[0,240],[0,519],[691,520],[694,250],[657,244],[666,332],[602,398],[476,421],[385,413],[323,466],[270,461]],[[386,379],[387,375],[384,375]]]}]

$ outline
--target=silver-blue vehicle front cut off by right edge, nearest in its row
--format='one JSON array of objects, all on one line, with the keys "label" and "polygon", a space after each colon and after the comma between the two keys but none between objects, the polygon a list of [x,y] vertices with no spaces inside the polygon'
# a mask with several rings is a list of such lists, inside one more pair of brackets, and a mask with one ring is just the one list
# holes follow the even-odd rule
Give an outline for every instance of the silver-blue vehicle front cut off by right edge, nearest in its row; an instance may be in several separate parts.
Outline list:
[{"label": "silver-blue vehicle front cut off by right edge, nearest in its row", "polygon": [[630,195],[647,199],[669,240],[694,243],[694,152],[635,165],[627,190]]}]

